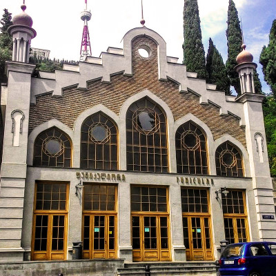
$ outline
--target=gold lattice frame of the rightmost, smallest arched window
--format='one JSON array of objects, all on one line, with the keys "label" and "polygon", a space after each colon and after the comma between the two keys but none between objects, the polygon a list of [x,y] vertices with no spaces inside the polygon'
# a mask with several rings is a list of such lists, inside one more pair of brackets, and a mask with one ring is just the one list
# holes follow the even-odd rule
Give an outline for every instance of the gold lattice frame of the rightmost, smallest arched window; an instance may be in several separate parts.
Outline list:
[{"label": "gold lattice frame of the rightmost, smallest arched window", "polygon": [[[228,171],[227,171],[227,168],[226,168],[226,166],[224,166],[224,165],[222,165],[221,164],[221,152],[223,152],[224,150],[221,150],[221,152],[219,152],[219,160],[217,161],[217,150],[218,150],[218,148],[220,148],[221,146],[223,146],[224,144],[229,144],[231,147],[233,147],[233,148],[235,148],[235,150],[237,150],[237,152],[238,152],[238,154],[239,154],[239,156],[240,156],[240,159],[241,159],[241,161],[242,161],[242,164],[241,164],[241,167],[239,168],[238,167],[238,164],[237,164],[237,157],[236,157],[236,155],[235,155],[235,158],[236,158],[236,167],[237,167],[237,176],[233,176],[233,170],[232,170],[232,168],[234,168],[234,167],[231,167],[231,168],[229,168],[229,169],[231,169],[231,175],[228,175]],[[227,146],[227,150],[228,150],[228,146]],[[230,151],[230,150],[229,150]],[[217,162],[219,162],[219,167],[217,166]],[[221,168],[222,167],[224,167],[225,169],[226,169],[226,175],[222,175],[221,174]],[[215,168],[216,168],[216,175],[218,175],[218,176],[221,176],[221,177],[245,177],[245,172],[246,172],[246,170],[245,170],[245,164],[244,164],[244,156],[242,155],[242,150],[240,150],[239,149],[239,147],[238,146],[236,146],[235,144],[233,144],[231,141],[229,141],[229,140],[227,140],[227,141],[225,141],[224,143],[221,143],[221,144],[219,144],[219,146],[217,146],[217,148],[216,148],[216,150],[215,150]],[[217,168],[219,168],[219,170],[220,170],[220,174],[218,174],[218,172],[217,172]],[[242,170],[242,176],[239,176],[239,170]]]}]

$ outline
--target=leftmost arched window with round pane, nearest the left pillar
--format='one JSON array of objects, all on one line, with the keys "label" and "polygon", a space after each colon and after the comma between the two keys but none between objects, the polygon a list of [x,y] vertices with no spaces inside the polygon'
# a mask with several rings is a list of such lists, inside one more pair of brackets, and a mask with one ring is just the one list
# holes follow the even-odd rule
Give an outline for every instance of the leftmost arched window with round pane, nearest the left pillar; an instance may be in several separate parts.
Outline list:
[{"label": "leftmost arched window with round pane, nearest the left pillar", "polygon": [[71,141],[56,127],[41,132],[34,141],[34,166],[70,168]]}]

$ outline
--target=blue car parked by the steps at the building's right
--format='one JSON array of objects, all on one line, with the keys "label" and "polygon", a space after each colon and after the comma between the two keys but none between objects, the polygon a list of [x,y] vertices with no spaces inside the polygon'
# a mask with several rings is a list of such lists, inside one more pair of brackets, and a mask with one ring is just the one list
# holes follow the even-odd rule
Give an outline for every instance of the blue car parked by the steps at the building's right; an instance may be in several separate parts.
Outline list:
[{"label": "blue car parked by the steps at the building's right", "polygon": [[226,246],[219,259],[221,276],[276,276],[275,242],[241,242]]}]

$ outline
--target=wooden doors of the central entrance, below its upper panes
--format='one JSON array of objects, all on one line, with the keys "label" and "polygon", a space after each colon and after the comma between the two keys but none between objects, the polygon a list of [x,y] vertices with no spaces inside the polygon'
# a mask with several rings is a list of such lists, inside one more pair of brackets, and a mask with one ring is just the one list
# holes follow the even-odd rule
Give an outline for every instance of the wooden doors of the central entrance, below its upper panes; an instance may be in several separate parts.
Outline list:
[{"label": "wooden doors of the central entrance, below its upper panes", "polygon": [[132,215],[133,262],[170,261],[169,217]]}]

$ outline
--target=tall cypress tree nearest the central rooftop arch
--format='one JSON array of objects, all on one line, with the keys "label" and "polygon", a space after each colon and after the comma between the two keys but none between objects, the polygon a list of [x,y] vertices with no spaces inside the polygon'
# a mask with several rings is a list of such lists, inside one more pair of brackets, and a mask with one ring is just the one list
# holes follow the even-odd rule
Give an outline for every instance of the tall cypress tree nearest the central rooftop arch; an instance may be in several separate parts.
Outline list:
[{"label": "tall cypress tree nearest the central rooftop arch", "polygon": [[202,43],[197,0],[184,1],[184,64],[197,77],[206,79],[205,52]]}]

